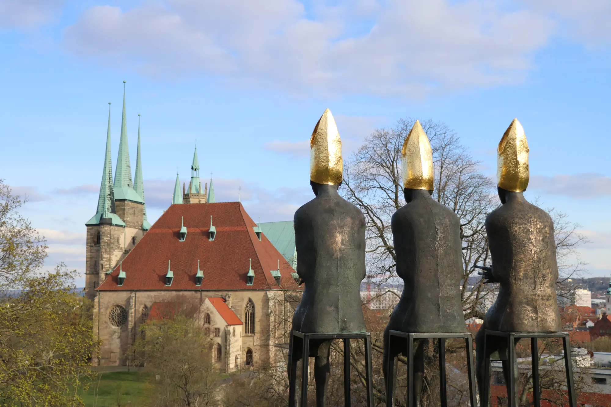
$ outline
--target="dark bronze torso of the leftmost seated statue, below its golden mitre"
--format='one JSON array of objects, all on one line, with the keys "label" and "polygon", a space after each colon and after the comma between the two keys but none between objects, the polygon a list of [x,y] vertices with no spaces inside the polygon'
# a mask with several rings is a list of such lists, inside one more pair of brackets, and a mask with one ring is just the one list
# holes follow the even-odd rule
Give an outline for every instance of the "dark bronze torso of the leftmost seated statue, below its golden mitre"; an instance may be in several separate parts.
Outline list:
[{"label": "dark bronze torso of the leftmost seated statue, below its golden mitre", "polygon": [[365,278],[365,217],[334,186],[295,212],[297,273],[304,280],[293,329],[365,332],[360,282]]}]

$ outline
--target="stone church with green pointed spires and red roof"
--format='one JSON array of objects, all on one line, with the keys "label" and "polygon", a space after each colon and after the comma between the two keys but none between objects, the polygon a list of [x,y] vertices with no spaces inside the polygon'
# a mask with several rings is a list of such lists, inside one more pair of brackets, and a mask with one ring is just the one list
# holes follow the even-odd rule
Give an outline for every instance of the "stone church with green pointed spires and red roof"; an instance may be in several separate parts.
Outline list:
[{"label": "stone church with green pointed spires and red roof", "polygon": [[[140,129],[131,176],[124,85],[114,178],[109,112],[97,210],[86,222],[85,295],[94,301],[93,331],[101,340],[94,364],[127,364],[139,325],[187,304],[196,308],[194,318],[210,333],[211,357],[223,371],[274,361],[288,342],[288,302],[301,291],[289,224],[264,227],[241,202],[216,202],[212,181],[202,188],[196,149],[189,186],[181,191],[177,176],[172,204],[151,225]],[[264,230],[282,243],[284,254]]]}]

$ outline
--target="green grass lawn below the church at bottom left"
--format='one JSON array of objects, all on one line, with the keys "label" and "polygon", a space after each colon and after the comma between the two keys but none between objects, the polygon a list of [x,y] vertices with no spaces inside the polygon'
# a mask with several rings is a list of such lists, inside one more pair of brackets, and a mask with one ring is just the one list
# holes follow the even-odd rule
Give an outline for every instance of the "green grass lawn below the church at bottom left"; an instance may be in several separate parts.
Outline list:
[{"label": "green grass lawn below the church at bottom left", "polygon": [[87,392],[82,394],[83,402],[86,407],[148,406],[146,381],[149,376],[143,372],[99,373]]}]

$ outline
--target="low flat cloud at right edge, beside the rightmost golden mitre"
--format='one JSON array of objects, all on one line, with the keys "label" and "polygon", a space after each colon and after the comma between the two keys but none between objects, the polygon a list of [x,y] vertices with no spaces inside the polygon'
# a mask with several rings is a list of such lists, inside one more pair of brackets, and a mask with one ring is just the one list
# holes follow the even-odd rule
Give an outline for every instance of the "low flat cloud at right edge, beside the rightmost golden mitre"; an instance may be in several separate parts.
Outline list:
[{"label": "low flat cloud at right edge, beside the rightmost golden mitre", "polygon": [[595,198],[611,195],[611,177],[602,174],[532,175],[530,189],[538,189],[546,194],[564,195],[573,198]]}]

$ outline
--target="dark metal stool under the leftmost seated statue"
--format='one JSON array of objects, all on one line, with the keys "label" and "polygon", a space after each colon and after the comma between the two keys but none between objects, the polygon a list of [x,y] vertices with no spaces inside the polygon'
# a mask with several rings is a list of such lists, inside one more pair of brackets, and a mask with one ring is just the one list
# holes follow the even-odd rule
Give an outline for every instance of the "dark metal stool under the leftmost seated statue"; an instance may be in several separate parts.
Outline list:
[{"label": "dark metal stool under the leftmost seated statue", "polygon": [[297,359],[293,359],[295,349],[302,348],[303,367],[301,374],[301,406],[307,406],[307,380],[308,380],[308,354],[310,353],[311,339],[343,339],[344,345],[344,406],[350,407],[350,340],[365,340],[365,382],[367,383],[367,407],[373,407],[373,381],[371,373],[371,336],[368,332],[349,334],[304,334],[291,331],[288,345],[288,406],[295,407],[295,386],[297,376]]}]

